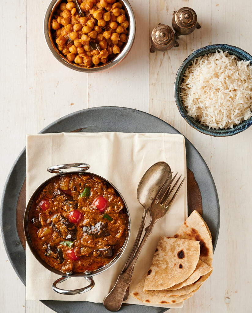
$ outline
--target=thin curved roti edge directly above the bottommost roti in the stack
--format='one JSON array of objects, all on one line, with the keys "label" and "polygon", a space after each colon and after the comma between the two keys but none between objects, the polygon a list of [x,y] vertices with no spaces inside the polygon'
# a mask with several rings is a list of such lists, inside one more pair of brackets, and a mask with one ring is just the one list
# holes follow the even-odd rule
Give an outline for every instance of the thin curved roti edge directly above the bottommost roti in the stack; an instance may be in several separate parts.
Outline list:
[{"label": "thin curved roti edge directly above the bottommost roti in the stack", "polygon": [[193,284],[184,286],[177,290],[154,290],[151,291],[152,295],[159,295],[162,297],[180,297],[182,295],[187,295],[191,292],[193,292],[195,289],[198,290],[198,288],[203,284],[205,280],[208,279],[208,277],[212,274],[212,271],[206,275],[201,276],[198,280],[196,280]]}]

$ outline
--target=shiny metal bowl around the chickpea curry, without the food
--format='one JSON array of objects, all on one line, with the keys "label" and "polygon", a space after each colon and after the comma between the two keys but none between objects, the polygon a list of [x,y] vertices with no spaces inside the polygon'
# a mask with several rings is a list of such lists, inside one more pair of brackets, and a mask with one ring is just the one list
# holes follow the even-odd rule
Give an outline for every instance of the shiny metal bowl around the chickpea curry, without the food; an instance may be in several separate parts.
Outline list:
[{"label": "shiny metal bowl around the chickpea curry, without the food", "polygon": [[130,52],[130,49],[132,47],[132,44],[135,39],[135,34],[136,34],[136,20],[134,16],[134,12],[131,8],[130,3],[128,0],[120,0],[121,4],[123,5],[126,14],[129,18],[129,33],[128,33],[128,38],[127,41],[121,50],[121,52],[112,60],[105,64],[97,65],[97,66],[91,66],[90,68],[82,67],[79,66],[78,64],[73,64],[67,60],[63,56],[63,54],[60,53],[56,45],[54,44],[54,40],[51,37],[50,34],[50,25],[51,25],[51,20],[52,16],[54,13],[54,10],[58,7],[58,5],[62,2],[62,0],[52,0],[46,10],[45,16],[44,16],[44,37],[45,41],[47,43],[48,48],[50,49],[51,53],[54,55],[54,57],[62,64],[65,66],[69,67],[70,69],[74,69],[79,72],[85,72],[85,73],[97,73],[104,71],[106,69],[111,69],[114,67],[116,64],[119,64]]}]

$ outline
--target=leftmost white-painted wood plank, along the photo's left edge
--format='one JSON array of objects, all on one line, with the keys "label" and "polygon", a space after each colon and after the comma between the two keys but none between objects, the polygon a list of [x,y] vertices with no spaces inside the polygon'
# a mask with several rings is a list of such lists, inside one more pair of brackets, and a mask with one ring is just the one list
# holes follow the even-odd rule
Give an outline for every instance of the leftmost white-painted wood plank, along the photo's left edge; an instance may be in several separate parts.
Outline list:
[{"label": "leftmost white-painted wood plank, along the photo's left edge", "polygon": [[[2,193],[8,172],[25,145],[25,0],[1,3],[0,16],[4,30],[0,49]],[[4,34],[15,35],[10,38]],[[24,313],[25,287],[13,270],[0,237],[0,310],[1,313]]]}]

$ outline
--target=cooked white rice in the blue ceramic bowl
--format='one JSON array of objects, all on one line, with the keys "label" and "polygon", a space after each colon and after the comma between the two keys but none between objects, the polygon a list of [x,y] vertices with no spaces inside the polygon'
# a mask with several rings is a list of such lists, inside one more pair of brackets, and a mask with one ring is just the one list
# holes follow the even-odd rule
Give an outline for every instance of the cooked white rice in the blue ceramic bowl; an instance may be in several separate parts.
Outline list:
[{"label": "cooked white rice in the blue ceramic bowl", "polygon": [[252,66],[228,52],[193,60],[183,75],[183,105],[209,128],[233,128],[252,116]]}]

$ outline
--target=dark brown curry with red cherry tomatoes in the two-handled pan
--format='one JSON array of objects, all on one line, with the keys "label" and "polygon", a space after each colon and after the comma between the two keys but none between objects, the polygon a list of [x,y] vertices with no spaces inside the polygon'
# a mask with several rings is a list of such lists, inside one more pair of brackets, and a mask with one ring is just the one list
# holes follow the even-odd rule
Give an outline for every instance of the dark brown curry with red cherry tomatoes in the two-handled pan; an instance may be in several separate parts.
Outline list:
[{"label": "dark brown curry with red cherry tomatoes in the two-handled pan", "polygon": [[29,211],[34,249],[59,271],[95,271],[116,257],[128,236],[125,204],[105,180],[65,174],[39,191]]}]

